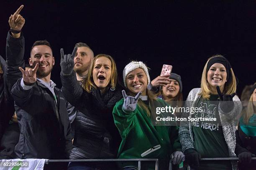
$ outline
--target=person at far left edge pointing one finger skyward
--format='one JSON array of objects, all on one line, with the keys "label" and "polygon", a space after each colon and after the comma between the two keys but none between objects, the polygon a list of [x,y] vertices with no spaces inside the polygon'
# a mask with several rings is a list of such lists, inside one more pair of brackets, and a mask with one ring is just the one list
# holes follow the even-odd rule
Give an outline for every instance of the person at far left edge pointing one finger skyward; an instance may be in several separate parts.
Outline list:
[{"label": "person at far left edge pointing one finger skyward", "polygon": [[25,19],[19,14],[22,8],[23,5],[10,16],[8,21],[10,31],[6,40],[6,64],[0,57],[0,70],[2,70],[0,74],[3,75],[0,76],[0,122],[3,124],[3,130],[0,130],[0,159],[15,158],[14,147],[20,135],[18,123],[15,123],[14,101],[10,93],[14,83],[22,77],[18,67],[24,68],[24,37],[21,29]]}]

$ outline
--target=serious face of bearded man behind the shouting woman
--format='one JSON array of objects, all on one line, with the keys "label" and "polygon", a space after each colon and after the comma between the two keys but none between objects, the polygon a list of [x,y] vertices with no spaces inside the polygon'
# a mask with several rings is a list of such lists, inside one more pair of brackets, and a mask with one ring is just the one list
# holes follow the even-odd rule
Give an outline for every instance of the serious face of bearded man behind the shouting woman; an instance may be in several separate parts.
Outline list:
[{"label": "serious face of bearded man behind the shouting woman", "polygon": [[74,57],[74,71],[78,74],[87,74],[93,59],[93,52],[88,47],[77,47],[77,53]]}]

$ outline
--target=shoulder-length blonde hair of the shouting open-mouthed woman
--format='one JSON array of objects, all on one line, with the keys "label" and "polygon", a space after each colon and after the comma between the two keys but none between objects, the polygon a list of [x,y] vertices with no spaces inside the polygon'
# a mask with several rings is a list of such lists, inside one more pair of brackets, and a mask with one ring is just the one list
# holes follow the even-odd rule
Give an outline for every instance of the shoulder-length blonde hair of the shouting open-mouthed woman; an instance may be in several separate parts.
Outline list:
[{"label": "shoulder-length blonde hair of the shouting open-mouthed woman", "polygon": [[116,69],[116,65],[115,65],[115,60],[110,55],[99,54],[96,57],[94,57],[91,65],[89,67],[87,78],[85,78],[83,80],[83,82],[82,82],[82,87],[87,92],[90,92],[92,87],[97,88],[97,86],[95,85],[95,83],[93,81],[92,72],[93,72],[93,69],[94,69],[95,61],[99,57],[106,57],[106,58],[108,58],[110,60],[110,62],[111,62],[111,77],[110,77],[110,82],[109,83],[110,83],[111,87],[115,87],[116,86],[118,74],[117,74],[117,69]]}]

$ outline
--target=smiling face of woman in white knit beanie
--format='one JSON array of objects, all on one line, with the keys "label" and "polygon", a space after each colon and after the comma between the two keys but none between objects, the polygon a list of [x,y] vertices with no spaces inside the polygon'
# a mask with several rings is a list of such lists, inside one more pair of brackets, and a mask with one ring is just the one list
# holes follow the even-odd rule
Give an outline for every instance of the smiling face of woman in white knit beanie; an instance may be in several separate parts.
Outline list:
[{"label": "smiling face of woman in white knit beanie", "polygon": [[148,84],[148,78],[146,73],[141,68],[136,68],[128,73],[126,76],[126,84],[128,90],[136,95],[138,92],[142,92],[141,95],[146,95],[146,89]]}]

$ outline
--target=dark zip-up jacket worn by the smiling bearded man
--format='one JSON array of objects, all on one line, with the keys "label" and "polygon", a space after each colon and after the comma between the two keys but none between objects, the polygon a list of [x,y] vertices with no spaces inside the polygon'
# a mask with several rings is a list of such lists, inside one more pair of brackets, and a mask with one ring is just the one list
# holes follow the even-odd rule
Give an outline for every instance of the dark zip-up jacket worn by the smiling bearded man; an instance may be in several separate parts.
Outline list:
[{"label": "dark zip-up jacket worn by the smiling bearded man", "polygon": [[23,90],[21,79],[12,95],[20,126],[15,147],[18,158],[66,159],[72,148],[72,135],[65,98],[54,87],[57,104],[51,91],[36,81],[30,90]]}]

